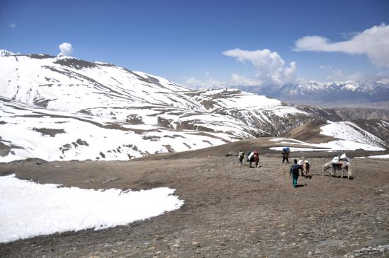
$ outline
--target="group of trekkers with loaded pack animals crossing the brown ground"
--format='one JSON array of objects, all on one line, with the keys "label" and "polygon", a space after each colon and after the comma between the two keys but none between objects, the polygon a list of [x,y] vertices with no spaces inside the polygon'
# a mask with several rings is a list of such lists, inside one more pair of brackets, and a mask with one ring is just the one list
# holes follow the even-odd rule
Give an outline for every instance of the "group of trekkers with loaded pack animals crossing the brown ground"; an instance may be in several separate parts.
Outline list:
[{"label": "group of trekkers with loaded pack animals crossing the brown ground", "polygon": [[[289,163],[289,160],[288,160],[289,153],[290,153],[289,147],[282,148],[282,163],[284,163],[285,161],[286,161],[286,163]],[[245,157],[245,153],[243,153],[243,151],[240,150],[238,153],[238,158],[239,158],[239,162],[240,162],[241,166],[243,165],[244,157]],[[251,165],[252,162],[255,163],[256,168],[259,168],[260,167],[260,165],[259,165],[260,157],[259,157],[258,151],[249,151],[247,153],[247,160],[246,161],[250,163],[250,168],[252,168],[252,165]],[[335,157],[332,158],[331,174],[332,174],[332,171],[334,171],[334,172],[336,171],[337,166],[339,166],[339,163],[342,163],[342,161],[347,161],[348,163],[350,163],[350,159],[347,158],[345,153],[343,153],[342,155],[335,155]],[[297,181],[298,181],[298,176],[300,175],[300,171],[301,171],[301,175],[304,175],[303,171],[305,171],[306,177],[309,177],[309,178],[312,177],[310,175],[309,168],[310,168],[310,164],[309,164],[308,160],[296,160],[296,159],[294,159],[294,163],[291,165],[291,168],[289,169],[289,177],[292,178],[293,187],[298,187]],[[308,176],[308,173],[309,173],[309,176]]]}]

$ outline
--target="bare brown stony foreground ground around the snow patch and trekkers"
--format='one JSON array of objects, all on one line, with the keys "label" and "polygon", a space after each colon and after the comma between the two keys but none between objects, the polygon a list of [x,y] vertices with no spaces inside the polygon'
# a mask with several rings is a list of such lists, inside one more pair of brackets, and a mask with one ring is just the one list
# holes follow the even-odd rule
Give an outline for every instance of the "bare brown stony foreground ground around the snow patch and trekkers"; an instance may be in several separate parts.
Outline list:
[{"label": "bare brown stony foreground ground around the snow patch and trekkers", "polygon": [[298,188],[276,154],[261,156],[260,168],[213,156],[0,164],[0,175],[35,182],[172,187],[185,200],[125,226],[0,244],[0,257],[389,257],[389,160],[353,159],[353,180],[323,175],[328,160],[310,158],[313,177]]}]

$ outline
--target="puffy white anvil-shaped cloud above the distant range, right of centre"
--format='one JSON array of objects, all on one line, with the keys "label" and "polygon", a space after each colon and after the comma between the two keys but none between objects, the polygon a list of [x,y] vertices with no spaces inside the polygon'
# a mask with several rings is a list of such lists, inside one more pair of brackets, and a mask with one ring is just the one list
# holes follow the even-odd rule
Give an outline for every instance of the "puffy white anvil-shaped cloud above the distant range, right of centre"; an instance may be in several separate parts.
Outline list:
[{"label": "puffy white anvil-shaped cloud above the distant range, right of centre", "polygon": [[[227,57],[235,57],[238,61],[250,61],[255,67],[255,81],[257,83],[255,85],[258,83],[282,85],[296,81],[296,62],[292,61],[289,66],[286,66],[279,54],[269,49],[250,51],[237,48],[227,50],[223,54]],[[240,79],[243,82],[248,82],[245,78]]]}]

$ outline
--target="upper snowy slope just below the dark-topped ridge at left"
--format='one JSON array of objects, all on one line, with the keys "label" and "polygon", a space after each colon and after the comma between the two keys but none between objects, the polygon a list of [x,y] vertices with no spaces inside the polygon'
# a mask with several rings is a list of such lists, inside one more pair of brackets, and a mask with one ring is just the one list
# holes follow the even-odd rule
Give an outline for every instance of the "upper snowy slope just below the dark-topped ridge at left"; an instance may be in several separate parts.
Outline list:
[{"label": "upper snowy slope just below the dark-topped ridge at left", "polygon": [[104,63],[46,55],[0,59],[0,95],[58,110],[166,105],[201,110],[163,78]]}]

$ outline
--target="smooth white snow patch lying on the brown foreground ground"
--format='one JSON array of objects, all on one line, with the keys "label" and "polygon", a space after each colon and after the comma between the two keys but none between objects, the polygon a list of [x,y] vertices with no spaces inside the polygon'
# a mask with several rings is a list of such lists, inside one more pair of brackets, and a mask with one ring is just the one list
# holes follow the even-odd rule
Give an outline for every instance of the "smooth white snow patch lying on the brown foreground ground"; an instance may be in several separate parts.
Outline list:
[{"label": "smooth white snow patch lying on the brown foreground ground", "polygon": [[173,192],[167,187],[139,192],[81,189],[0,177],[0,242],[99,230],[158,216],[184,203]]}]

